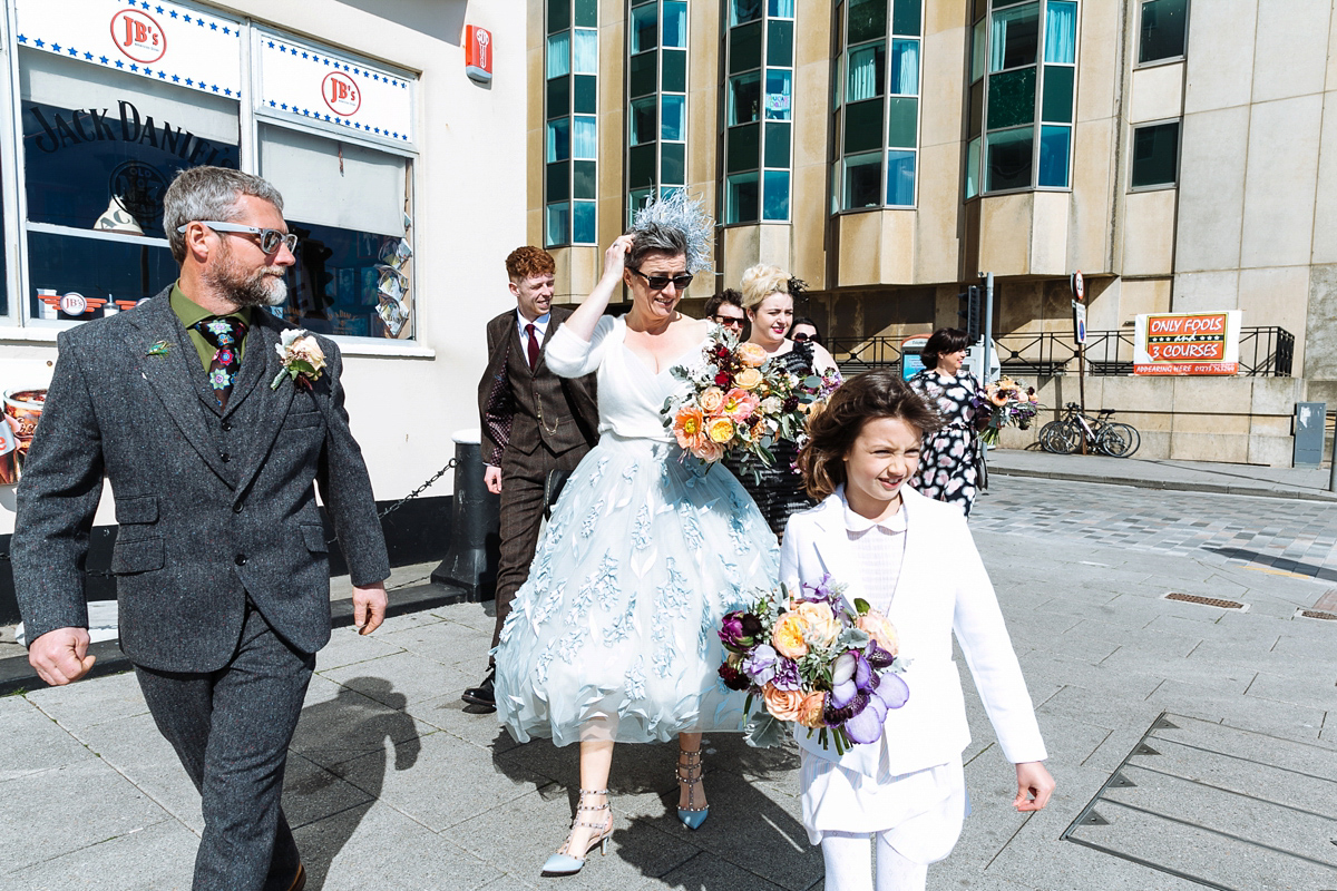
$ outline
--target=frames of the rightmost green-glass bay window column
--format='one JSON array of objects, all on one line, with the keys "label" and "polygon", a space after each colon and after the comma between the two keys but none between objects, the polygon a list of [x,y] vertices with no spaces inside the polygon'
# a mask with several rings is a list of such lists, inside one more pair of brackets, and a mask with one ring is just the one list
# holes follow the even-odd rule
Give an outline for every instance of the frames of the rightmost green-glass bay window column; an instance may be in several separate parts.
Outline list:
[{"label": "frames of the rightmost green-glass bay window column", "polygon": [[[1076,163],[1076,106],[1078,106],[1078,88],[1079,88],[1079,72],[1082,65],[1082,4],[1083,0],[1008,0],[1007,5],[1001,7],[1001,11],[1015,9],[1016,7],[1024,5],[1027,3],[1035,3],[1038,8],[1038,39],[1035,44],[1035,61],[1024,65],[1013,65],[1012,68],[1000,68],[999,71],[989,71],[989,55],[992,51],[993,40],[993,15],[996,11],[997,0],[985,0],[983,4],[983,16],[971,21],[968,28],[969,45],[967,47],[967,88],[965,88],[965,127],[967,136],[964,140],[963,151],[963,176],[961,176],[961,195],[964,202],[973,202],[985,196],[995,195],[1016,195],[1020,192],[1071,192],[1072,191],[1072,174]],[[1072,61],[1046,61],[1046,25],[1048,21],[1048,12],[1051,3],[1072,3],[1075,7],[1074,13],[1074,29],[1072,29]],[[975,56],[975,33],[980,23],[984,24],[984,51],[983,51],[983,65],[980,77],[976,80],[969,80],[971,68]],[[1035,98],[1034,98],[1034,114],[1029,124],[1017,124],[1013,127],[1000,127],[997,130],[989,130],[989,79],[996,75],[1011,73],[1016,71],[1023,71],[1027,68],[1035,69]],[[1046,122],[1044,120],[1044,85],[1046,85],[1046,68],[1071,68],[1072,69],[1072,110],[1070,119],[1067,122]],[[971,115],[972,110],[969,103],[972,102],[972,91],[975,84],[983,84],[980,90],[980,100],[983,107],[980,110],[980,132],[979,136],[969,135]],[[1066,171],[1066,186],[1042,186],[1040,180],[1040,140],[1043,136],[1043,130],[1046,126],[1050,127],[1064,127],[1068,131],[1068,158],[1067,158],[1067,171]],[[1013,130],[1031,130],[1031,176],[1027,186],[1016,186],[1012,188],[988,188],[988,147],[989,136],[995,134],[1007,134]],[[972,195],[969,194],[969,178],[971,178],[971,151],[979,140],[979,168],[975,171],[977,188]]]}]

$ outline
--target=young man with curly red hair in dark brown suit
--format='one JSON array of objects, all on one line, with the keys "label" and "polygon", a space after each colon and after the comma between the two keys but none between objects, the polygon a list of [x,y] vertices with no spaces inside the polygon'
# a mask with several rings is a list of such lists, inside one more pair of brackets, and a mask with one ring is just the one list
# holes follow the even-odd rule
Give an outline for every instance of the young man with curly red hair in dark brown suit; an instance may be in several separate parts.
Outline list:
[{"label": "young man with curly red hair in dark brown suit", "polygon": [[[488,490],[501,496],[493,647],[515,592],[529,576],[548,474],[574,470],[599,439],[594,375],[559,378],[543,361],[548,338],[571,315],[571,310],[552,306],[555,270],[552,256],[540,247],[525,244],[511,251],[505,271],[516,307],[488,322],[479,415]],[[464,701],[493,709],[493,677],[489,660],[483,683],[464,691]]]}]

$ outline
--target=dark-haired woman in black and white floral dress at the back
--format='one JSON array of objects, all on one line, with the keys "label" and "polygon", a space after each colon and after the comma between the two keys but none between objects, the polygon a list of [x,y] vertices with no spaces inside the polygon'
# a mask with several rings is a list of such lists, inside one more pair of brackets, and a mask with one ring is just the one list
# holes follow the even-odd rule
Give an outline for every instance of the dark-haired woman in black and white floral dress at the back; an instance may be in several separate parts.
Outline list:
[{"label": "dark-haired woman in black and white floral dress at the back", "polygon": [[983,395],[975,375],[961,371],[968,341],[960,329],[939,329],[924,345],[924,370],[910,387],[937,409],[944,426],[924,437],[920,466],[912,485],[921,494],[955,504],[971,516],[979,472],[975,466],[976,397]]}]

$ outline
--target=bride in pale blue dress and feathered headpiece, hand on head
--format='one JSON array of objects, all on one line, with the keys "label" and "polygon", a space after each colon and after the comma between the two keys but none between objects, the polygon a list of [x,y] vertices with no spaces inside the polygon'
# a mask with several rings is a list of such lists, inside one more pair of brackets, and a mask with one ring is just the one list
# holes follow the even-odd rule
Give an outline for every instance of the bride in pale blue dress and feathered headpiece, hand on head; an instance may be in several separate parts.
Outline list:
[{"label": "bride in pale blue dress and feathered headpiece, hand on head", "polygon": [[[660,414],[683,386],[670,369],[699,362],[711,329],[677,310],[706,264],[694,214],[682,198],[642,211],[547,345],[556,374],[598,371],[600,439],[562,490],[496,649],[497,717],[511,735],[580,743],[580,801],[545,874],[607,851],[614,743],[677,736],[678,816],[701,826],[701,735],[739,732],[743,717],[742,693],[717,673],[715,632],[747,589],[778,574],[757,505],[725,468],[683,460]],[[615,319],[603,311],[619,282],[632,305]]]}]

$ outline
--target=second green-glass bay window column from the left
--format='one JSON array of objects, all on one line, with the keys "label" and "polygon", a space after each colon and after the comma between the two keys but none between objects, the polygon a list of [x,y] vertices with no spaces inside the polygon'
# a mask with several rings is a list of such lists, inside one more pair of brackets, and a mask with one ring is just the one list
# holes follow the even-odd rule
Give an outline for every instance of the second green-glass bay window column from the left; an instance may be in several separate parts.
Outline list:
[{"label": "second green-glass bay window column from the left", "polygon": [[687,3],[632,0],[627,211],[687,184]]}]

